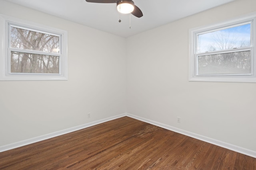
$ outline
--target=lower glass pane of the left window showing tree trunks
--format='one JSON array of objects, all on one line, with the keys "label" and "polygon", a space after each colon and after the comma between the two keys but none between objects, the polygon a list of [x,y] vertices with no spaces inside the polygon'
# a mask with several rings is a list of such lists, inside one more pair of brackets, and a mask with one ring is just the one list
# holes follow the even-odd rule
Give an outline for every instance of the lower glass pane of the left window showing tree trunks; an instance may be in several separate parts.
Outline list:
[{"label": "lower glass pane of the left window showing tree trunks", "polygon": [[11,52],[11,73],[59,74],[58,56]]}]

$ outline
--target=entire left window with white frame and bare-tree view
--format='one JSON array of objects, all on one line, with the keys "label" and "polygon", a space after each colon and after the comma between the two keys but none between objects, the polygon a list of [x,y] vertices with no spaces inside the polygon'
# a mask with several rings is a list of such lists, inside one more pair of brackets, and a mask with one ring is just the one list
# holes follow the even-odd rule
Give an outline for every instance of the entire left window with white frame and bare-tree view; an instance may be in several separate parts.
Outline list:
[{"label": "entire left window with white frame and bare-tree view", "polygon": [[67,80],[67,33],[1,15],[0,80]]}]

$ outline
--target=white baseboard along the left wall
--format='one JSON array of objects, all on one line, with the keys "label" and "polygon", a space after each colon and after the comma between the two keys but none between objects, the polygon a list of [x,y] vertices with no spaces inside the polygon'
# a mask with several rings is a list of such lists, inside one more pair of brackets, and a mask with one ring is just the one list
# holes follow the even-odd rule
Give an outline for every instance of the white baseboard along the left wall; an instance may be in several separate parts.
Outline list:
[{"label": "white baseboard along the left wall", "polygon": [[32,143],[36,143],[36,142],[39,142],[39,141],[43,141],[43,140],[46,140],[46,139],[50,139],[50,138],[53,138],[53,137],[64,135],[64,134],[67,134],[67,133],[70,133],[70,132],[78,131],[78,130],[84,129],[86,127],[91,127],[91,126],[94,126],[94,125],[98,125],[100,123],[104,123],[106,121],[118,119],[118,118],[124,117],[124,116],[126,116],[126,113],[121,114],[121,115],[117,115],[117,116],[113,116],[113,117],[108,117],[106,119],[101,119],[101,120],[98,120],[98,121],[86,123],[84,125],[71,127],[71,128],[68,128],[68,129],[61,130],[61,131],[49,133],[49,134],[46,134],[46,135],[34,137],[34,138],[31,138],[31,139],[26,139],[24,141],[19,141],[19,142],[16,142],[16,143],[11,143],[11,144],[8,144],[8,145],[4,145],[4,146],[0,147],[0,152],[4,152],[6,150],[11,150],[11,149],[14,149],[14,148],[22,147],[22,146],[29,145],[29,144],[32,144]]}]

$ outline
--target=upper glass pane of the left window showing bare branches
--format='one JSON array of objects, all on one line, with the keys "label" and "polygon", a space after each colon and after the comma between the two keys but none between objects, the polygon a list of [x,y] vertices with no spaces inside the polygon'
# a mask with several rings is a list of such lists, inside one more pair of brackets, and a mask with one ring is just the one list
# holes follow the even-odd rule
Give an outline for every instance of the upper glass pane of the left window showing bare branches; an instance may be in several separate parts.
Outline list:
[{"label": "upper glass pane of the left window showing bare branches", "polygon": [[11,47],[59,53],[59,37],[26,29],[11,27]]}]

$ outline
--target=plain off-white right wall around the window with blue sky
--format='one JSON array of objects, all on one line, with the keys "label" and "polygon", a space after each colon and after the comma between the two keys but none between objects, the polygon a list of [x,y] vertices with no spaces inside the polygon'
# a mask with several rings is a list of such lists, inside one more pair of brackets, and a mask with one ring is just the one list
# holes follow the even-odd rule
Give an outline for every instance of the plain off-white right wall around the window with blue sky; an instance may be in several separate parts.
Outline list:
[{"label": "plain off-white right wall around the window with blue sky", "polygon": [[236,0],[128,38],[127,112],[256,151],[256,83],[188,82],[188,30],[254,11]]}]

